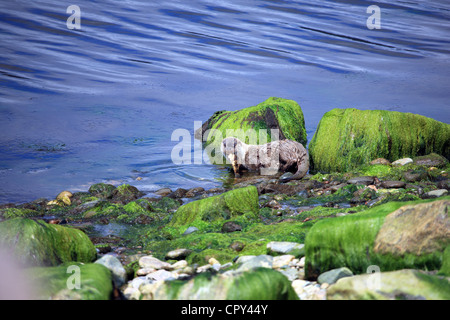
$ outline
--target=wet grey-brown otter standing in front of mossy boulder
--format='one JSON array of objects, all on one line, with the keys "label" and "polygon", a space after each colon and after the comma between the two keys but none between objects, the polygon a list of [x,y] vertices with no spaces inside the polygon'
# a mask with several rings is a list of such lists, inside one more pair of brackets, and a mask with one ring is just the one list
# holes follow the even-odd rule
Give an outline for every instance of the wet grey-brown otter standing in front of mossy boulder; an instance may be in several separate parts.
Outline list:
[{"label": "wet grey-brown otter standing in front of mossy boulder", "polygon": [[281,180],[288,182],[303,178],[309,170],[308,152],[301,143],[292,140],[249,145],[230,137],[222,140],[220,151],[231,162],[236,178],[244,169],[269,175],[278,171],[294,172],[293,176]]}]

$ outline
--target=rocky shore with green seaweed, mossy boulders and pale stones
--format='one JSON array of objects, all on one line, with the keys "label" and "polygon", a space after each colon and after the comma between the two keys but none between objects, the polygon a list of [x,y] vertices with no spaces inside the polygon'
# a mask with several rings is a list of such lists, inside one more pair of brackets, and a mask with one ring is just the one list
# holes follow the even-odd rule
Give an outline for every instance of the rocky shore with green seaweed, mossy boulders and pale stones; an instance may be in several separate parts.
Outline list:
[{"label": "rocky shore with green seaweed, mossy boulders and pale stones", "polygon": [[[275,110],[287,116],[297,106]],[[275,124],[273,109],[259,112]],[[277,124],[286,136],[305,139],[283,124],[292,124]],[[444,136],[446,126],[432,124]],[[358,132],[348,133],[353,142]],[[388,155],[398,154],[394,136]],[[39,283],[38,299],[450,299],[449,139],[410,158],[342,148],[351,163],[330,149],[314,174],[289,183],[247,173],[227,187],[151,194],[98,183],[3,204],[0,244]],[[78,270],[78,288],[68,286],[68,268]]]}]

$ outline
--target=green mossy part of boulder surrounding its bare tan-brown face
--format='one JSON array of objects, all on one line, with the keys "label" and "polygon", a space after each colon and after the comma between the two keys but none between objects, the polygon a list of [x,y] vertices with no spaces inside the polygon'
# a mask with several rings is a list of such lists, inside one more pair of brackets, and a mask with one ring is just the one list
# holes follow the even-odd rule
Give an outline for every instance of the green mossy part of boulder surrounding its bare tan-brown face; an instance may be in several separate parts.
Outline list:
[{"label": "green mossy part of boulder surrounding its bare tan-brown face", "polygon": [[[439,200],[448,200],[441,197]],[[439,270],[443,265],[444,250],[435,250],[416,255],[406,252],[401,255],[377,252],[376,237],[388,214],[405,205],[414,205],[430,200],[413,202],[389,202],[364,212],[317,222],[305,239],[306,276],[314,279],[319,274],[340,267],[348,267],[355,274],[366,273],[372,265],[381,271],[403,268]]]}]

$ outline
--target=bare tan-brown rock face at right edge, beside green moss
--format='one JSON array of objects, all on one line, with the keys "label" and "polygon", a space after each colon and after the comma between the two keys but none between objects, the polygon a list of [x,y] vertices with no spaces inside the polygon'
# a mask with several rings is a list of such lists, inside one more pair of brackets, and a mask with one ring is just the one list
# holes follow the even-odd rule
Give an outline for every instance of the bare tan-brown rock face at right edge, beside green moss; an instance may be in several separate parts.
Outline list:
[{"label": "bare tan-brown rock face at right edge, beside green moss", "polygon": [[450,244],[450,200],[409,205],[387,215],[374,243],[377,253],[423,256]]}]

